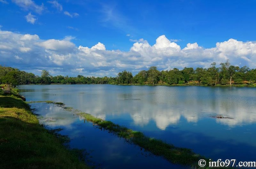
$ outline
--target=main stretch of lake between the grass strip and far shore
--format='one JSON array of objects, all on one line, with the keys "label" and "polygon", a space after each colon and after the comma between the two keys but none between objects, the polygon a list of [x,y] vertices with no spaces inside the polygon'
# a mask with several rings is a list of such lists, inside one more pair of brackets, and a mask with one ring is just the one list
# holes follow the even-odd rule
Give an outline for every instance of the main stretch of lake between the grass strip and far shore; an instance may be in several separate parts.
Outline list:
[{"label": "main stretch of lake between the grass strip and far shore", "polygon": [[[28,101],[64,102],[67,107],[163,138],[177,146],[193,147],[198,152],[202,152],[200,145],[205,141],[221,142],[230,146],[229,151],[235,145],[256,147],[255,88],[115,85],[34,85],[21,88],[34,90],[24,93]],[[212,118],[216,115],[232,119]],[[173,134],[176,138],[168,137]],[[213,145],[216,148],[206,149],[216,155],[224,151],[221,146]],[[224,152],[228,155],[229,151]],[[234,153],[240,154],[239,151]]]}]

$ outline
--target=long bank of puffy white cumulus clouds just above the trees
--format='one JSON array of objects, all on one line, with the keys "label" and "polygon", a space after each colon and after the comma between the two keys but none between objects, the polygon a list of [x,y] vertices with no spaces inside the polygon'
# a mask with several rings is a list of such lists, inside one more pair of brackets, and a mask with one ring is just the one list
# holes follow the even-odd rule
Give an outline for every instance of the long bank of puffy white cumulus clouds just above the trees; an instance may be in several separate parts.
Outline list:
[{"label": "long bank of puffy white cumulus clouds just above the trees", "polygon": [[[71,42],[74,38],[66,36],[63,39],[43,40],[36,34],[0,30],[1,64],[26,65],[35,71],[47,65],[48,68],[45,69],[52,71],[53,75],[77,76],[79,72],[85,76],[112,77],[123,70],[131,71],[135,75],[150,66],[156,66],[158,70],[208,68],[212,62],[219,64],[227,59],[231,64],[238,64],[240,67],[256,67],[256,42],[229,39],[217,42],[215,47],[208,49],[194,42],[181,49],[177,43],[161,35],[153,45],[144,39],[134,40],[130,50],[123,52],[107,50],[101,42],[91,47],[76,46]],[[9,59],[14,56],[23,60],[17,57],[15,60]]]}]

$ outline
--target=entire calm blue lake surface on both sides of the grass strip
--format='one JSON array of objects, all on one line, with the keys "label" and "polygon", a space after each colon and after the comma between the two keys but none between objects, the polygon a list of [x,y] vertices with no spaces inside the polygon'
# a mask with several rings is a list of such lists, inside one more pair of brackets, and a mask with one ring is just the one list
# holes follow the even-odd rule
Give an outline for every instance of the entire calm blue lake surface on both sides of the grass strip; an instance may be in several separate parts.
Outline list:
[{"label": "entire calm blue lake surface on both sides of the grass strip", "polygon": [[[30,85],[27,101],[53,100],[141,131],[211,159],[255,161],[256,88],[197,86]],[[71,148],[85,148],[101,168],[186,168],[173,165],[84,123],[73,113],[33,103],[48,127],[62,127]],[[225,118],[214,118],[222,115]]]}]

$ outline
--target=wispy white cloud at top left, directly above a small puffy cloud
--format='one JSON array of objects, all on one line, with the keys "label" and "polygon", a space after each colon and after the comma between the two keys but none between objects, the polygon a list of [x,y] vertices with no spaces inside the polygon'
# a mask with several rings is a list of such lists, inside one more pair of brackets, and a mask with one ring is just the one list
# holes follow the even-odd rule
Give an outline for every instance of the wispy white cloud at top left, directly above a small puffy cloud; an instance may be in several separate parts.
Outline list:
[{"label": "wispy white cloud at top left, directly above a small puffy cloud", "polygon": [[35,4],[34,1],[32,0],[12,0],[16,5],[20,6],[24,10],[33,10],[38,14],[41,14],[44,10],[44,4],[42,5],[37,5]]}]

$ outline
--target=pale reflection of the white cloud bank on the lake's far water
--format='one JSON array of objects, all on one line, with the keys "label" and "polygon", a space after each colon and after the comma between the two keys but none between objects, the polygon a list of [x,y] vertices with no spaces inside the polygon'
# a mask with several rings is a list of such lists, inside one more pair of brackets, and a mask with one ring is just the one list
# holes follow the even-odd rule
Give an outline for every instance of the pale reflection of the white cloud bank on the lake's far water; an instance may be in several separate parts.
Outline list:
[{"label": "pale reflection of the white cloud bank on the lake's far water", "polygon": [[202,117],[223,115],[232,119],[215,120],[229,127],[256,121],[254,88],[110,85],[31,87],[24,86],[25,90],[21,88],[27,100],[65,102],[67,106],[95,116],[129,113],[134,124],[144,126],[153,119],[162,130],[179,123],[181,116],[185,117],[187,122],[196,123]]}]

